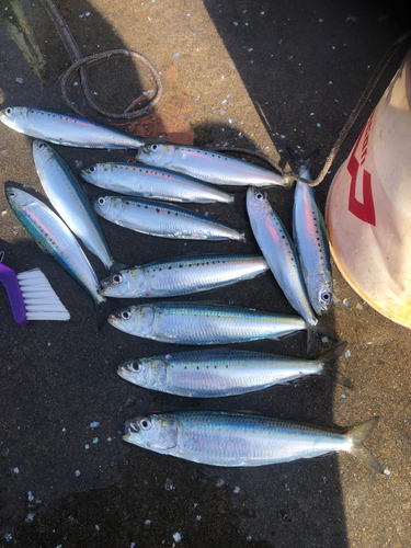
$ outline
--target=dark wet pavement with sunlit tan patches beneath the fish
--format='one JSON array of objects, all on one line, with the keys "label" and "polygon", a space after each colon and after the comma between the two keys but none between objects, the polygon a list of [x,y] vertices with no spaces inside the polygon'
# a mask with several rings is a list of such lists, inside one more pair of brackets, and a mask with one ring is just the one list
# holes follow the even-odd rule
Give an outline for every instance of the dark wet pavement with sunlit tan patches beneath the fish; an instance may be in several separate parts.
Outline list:
[{"label": "dark wet pavement with sunlit tan patches beneath the fish", "polygon": [[[23,37],[25,57],[16,45],[22,46],[18,5],[33,30],[30,47]],[[83,56],[130,48],[161,73],[164,91],[156,113],[117,127],[174,142],[258,148],[274,160],[282,158],[283,164],[286,146],[300,147],[307,155],[320,148],[315,172],[378,61],[404,31],[403,13],[395,3],[62,0],[58,5]],[[0,9],[2,107],[68,112],[57,80],[71,62],[42,3],[3,0]],[[406,52],[393,57],[318,187],[322,208],[333,174]],[[147,68],[127,59],[89,72],[96,100],[116,112],[153,85]],[[31,146],[32,139],[0,126],[1,183],[27,184],[42,192]],[[62,147],[58,152],[76,173],[95,161],[133,157],[130,151]],[[90,197],[101,195],[96,187],[84,187]],[[105,220],[101,225],[115,259],[129,265],[191,252],[258,252],[244,190],[236,195],[236,207],[191,207],[246,229],[246,244],[161,240]],[[293,193],[271,189],[269,197],[290,229]],[[354,389],[307,378],[252,395],[189,400],[122,380],[116,375],[119,363],[169,352],[170,345],[132,338],[107,323],[99,332],[91,299],[39,251],[2,194],[0,214],[4,263],[18,272],[38,266],[71,313],[67,323],[33,321],[19,327],[0,287],[0,547],[408,545],[410,332],[364,304],[336,269],[336,301],[324,323],[347,343],[338,369]],[[103,277],[101,264],[90,260]],[[269,274],[190,300],[293,312]],[[124,300],[110,304],[113,309],[123,305]],[[283,342],[236,347],[304,356],[305,343],[297,334]],[[316,352],[328,349],[318,343]],[[345,454],[225,469],[122,441],[127,419],[176,409],[247,410],[336,429],[379,415],[366,445],[386,475],[378,476]]]}]

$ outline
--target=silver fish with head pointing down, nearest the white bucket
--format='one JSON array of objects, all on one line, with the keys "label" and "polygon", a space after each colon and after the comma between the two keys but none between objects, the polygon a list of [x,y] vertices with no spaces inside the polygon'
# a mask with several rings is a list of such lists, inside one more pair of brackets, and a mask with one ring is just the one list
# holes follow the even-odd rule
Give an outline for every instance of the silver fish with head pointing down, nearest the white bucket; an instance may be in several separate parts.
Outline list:
[{"label": "silver fish with head pointing down, nearest the white bucket", "polygon": [[[290,149],[288,152],[298,165],[299,174],[311,179],[309,165],[312,156],[302,160]],[[330,244],[313,190],[299,181],[294,193],[293,236],[311,306],[319,316],[328,313],[332,304]]]}]

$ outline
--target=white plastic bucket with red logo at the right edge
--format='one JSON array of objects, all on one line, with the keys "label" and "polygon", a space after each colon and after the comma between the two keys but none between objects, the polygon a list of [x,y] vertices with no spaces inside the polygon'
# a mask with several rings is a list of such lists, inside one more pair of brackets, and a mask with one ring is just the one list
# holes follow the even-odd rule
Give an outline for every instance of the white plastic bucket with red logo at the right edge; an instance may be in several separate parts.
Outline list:
[{"label": "white plastic bucket with red logo at the right edge", "polygon": [[332,256],[372,307],[411,328],[411,50],[333,179]]}]

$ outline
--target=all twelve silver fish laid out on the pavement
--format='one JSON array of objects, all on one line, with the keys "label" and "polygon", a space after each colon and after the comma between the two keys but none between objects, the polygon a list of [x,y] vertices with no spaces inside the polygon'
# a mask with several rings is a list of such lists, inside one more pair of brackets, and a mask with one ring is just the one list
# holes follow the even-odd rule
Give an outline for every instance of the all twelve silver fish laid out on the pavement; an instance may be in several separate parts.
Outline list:
[{"label": "all twelve silver fish laid out on the pavement", "polygon": [[[109,322],[132,335],[186,345],[281,339],[301,330],[307,331],[308,351],[313,334],[334,340],[317,317],[330,310],[332,276],[323,219],[308,185],[296,183],[293,241],[261,190],[289,186],[289,181],[277,173],[207,150],[144,142],[53,111],[8,107],[0,112],[0,121],[35,138],[33,158],[37,174],[58,215],[33,193],[10,185],[5,189],[9,204],[38,246],[89,293],[100,328],[105,320],[107,297],[165,299],[251,279],[271,270],[297,315],[160,300],[115,310],[109,315]],[[100,196],[92,207],[70,168],[45,141],[71,147],[136,148],[139,163],[99,163],[82,170],[80,175],[87,182],[121,194]],[[299,173],[309,178],[312,157],[301,160],[293,151],[290,155]],[[130,269],[115,262],[98,215],[161,238],[244,241],[243,232],[175,205],[233,202],[232,194],[213,184],[247,187],[247,212],[262,255],[208,253],[160,258]],[[103,263],[106,277],[101,282],[76,237]],[[347,386],[332,368],[341,352],[339,345],[317,359],[301,359],[253,351],[202,349],[132,359],[119,366],[118,375],[140,387],[197,398],[251,392],[307,375],[326,375]],[[124,439],[157,453],[216,466],[261,466],[345,450],[381,472],[362,443],[375,424],[376,418],[340,434],[242,413],[189,411],[127,421]]]}]

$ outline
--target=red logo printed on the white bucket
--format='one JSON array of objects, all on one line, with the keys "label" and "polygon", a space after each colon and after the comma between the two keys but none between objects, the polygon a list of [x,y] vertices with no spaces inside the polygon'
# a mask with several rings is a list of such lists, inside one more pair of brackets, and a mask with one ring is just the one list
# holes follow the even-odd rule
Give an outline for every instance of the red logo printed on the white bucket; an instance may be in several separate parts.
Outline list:
[{"label": "red logo printed on the white bucket", "polygon": [[[355,144],[355,147],[351,153],[346,169],[351,175],[349,209],[353,215],[355,215],[355,217],[358,217],[358,219],[364,220],[364,222],[368,222],[369,225],[373,225],[375,227],[375,208],[374,208],[374,199],[372,192],[372,174],[367,170],[363,171],[363,203],[358,202],[357,198],[355,197],[358,169],[361,165],[363,165],[363,163],[365,162],[365,158],[367,156],[369,130],[372,128],[374,114],[375,111],[369,116],[368,122],[364,126],[364,129],[362,130],[358,140]],[[358,160],[355,158],[355,152],[357,151],[363,135],[364,135],[364,141],[363,141],[363,147],[361,152],[361,163],[359,163]]]}]

